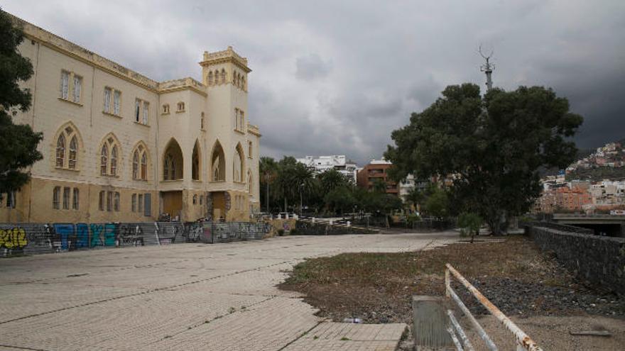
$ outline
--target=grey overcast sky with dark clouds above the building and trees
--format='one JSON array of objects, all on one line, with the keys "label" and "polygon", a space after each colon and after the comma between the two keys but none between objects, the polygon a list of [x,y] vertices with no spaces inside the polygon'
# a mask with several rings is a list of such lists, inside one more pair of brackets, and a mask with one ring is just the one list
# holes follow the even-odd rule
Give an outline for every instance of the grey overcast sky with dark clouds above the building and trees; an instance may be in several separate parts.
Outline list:
[{"label": "grey overcast sky with dark clouds above the building and trees", "polygon": [[625,138],[625,1],[2,1],[4,10],[159,81],[202,52],[249,58],[261,154],[381,157],[448,84],[552,87],[578,147]]}]

